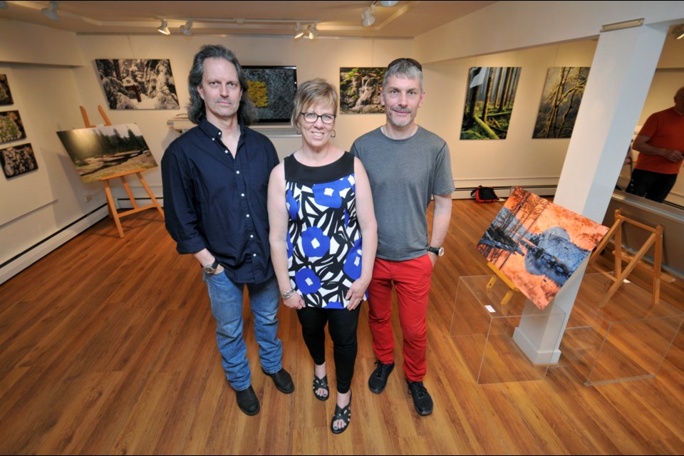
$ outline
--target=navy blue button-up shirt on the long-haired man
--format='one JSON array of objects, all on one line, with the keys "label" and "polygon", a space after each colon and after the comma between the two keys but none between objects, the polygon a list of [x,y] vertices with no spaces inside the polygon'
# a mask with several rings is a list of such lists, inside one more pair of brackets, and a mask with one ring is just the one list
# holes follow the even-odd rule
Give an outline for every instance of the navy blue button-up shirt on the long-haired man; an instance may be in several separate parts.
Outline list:
[{"label": "navy blue button-up shirt on the long-haired man", "polygon": [[233,158],[207,119],[173,141],[162,157],[166,229],[180,254],[205,247],[237,283],[273,276],[266,200],[276,149],[240,125]]}]

